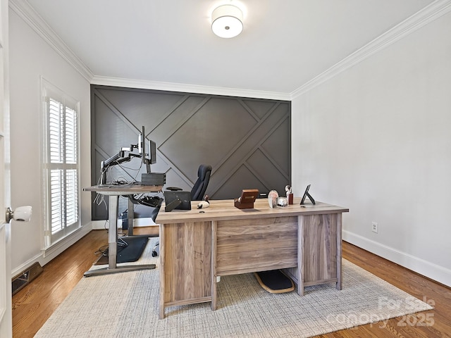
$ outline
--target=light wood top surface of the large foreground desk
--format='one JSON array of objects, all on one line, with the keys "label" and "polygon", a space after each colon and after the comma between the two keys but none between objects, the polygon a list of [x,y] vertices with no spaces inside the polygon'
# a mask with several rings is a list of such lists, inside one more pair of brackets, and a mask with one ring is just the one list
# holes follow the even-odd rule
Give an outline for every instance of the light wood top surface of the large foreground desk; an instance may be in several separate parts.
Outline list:
[{"label": "light wood top surface of the large foreground desk", "polygon": [[[173,210],[166,213],[163,206],[156,216],[156,223],[185,223],[187,221],[239,220],[240,218],[271,218],[274,216],[314,215],[321,213],[347,213],[348,208],[316,202],[300,206],[301,198],[295,198],[289,206],[270,208],[268,199],[257,199],[253,209],[235,208],[233,199],[211,200],[208,208],[198,209],[199,201],[191,202],[191,210]],[[202,213],[202,211],[204,211]]]}]

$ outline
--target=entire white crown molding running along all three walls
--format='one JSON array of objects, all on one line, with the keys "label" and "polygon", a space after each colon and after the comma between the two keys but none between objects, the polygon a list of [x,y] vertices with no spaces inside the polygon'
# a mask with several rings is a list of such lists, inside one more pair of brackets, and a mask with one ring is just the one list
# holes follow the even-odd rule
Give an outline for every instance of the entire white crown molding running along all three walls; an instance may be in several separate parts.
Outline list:
[{"label": "entire white crown molding running along all three walls", "polygon": [[357,63],[364,61],[366,58],[369,58],[369,56],[376,54],[378,51],[385,49],[385,47],[390,46],[424,25],[440,18],[440,16],[445,15],[451,11],[451,0],[434,1],[432,4],[421,9],[421,11],[418,11],[414,15],[402,21],[402,23],[396,25],[391,30],[388,30],[383,35],[369,42],[369,44],[366,44],[361,49],[355,51],[353,54],[350,54],[350,56],[347,56],[342,61],[336,63],[328,70],[309,80],[309,82],[306,82],[304,85],[295,89],[295,91],[291,93],[265,92],[250,89],[208,87],[194,84],[96,76],[91,70],[89,70],[89,68],[87,68],[85,63],[83,63],[80,58],[78,58],[78,56],[70,50],[63,40],[58,37],[56,32],[51,29],[51,27],[41,18],[41,16],[39,16],[39,14],[36,13],[36,11],[30,6],[30,4],[27,3],[26,0],[10,0],[9,8],[17,13],[20,18],[27,23],[27,25],[32,27],[32,29],[35,30],[35,32],[37,32],[37,34],[56,51],[56,53],[72,65],[73,68],[75,68],[75,70],[82,75],[82,77],[85,77],[85,79],[92,84],[290,101],[295,99],[297,96],[301,96],[302,94],[309,92],[311,89],[314,89],[314,87],[330,80],[343,71],[352,68],[352,66],[357,65]]}]

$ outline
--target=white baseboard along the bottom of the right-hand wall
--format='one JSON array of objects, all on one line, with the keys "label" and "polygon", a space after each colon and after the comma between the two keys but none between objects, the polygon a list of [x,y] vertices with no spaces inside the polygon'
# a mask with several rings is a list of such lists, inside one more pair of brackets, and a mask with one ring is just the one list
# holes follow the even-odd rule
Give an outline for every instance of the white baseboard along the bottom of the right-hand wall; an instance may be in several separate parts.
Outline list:
[{"label": "white baseboard along the bottom of the right-hand wall", "polygon": [[362,249],[375,253],[388,261],[397,263],[404,268],[412,270],[420,275],[424,275],[431,280],[436,280],[442,284],[451,287],[451,270],[444,268],[443,266],[425,261],[424,259],[412,256],[409,253],[405,253],[394,249],[390,246],[374,242],[371,239],[360,236],[359,234],[354,234],[343,230],[342,239],[346,242],[359,246]]}]

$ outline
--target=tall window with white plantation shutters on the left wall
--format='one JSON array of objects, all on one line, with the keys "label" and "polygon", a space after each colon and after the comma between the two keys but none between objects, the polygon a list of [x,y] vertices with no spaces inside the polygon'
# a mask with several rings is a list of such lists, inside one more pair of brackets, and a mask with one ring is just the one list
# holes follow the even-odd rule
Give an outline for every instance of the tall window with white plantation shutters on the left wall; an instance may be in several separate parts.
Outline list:
[{"label": "tall window with white plantation shutters on the left wall", "polygon": [[78,102],[43,80],[44,245],[77,230],[79,222]]}]

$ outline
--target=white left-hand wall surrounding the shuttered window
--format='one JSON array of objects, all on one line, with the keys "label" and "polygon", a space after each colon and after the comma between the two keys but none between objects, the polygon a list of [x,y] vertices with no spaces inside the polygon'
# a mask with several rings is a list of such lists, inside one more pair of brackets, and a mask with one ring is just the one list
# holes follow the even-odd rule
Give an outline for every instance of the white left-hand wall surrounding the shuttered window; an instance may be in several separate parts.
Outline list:
[{"label": "white left-hand wall surrounding the shuttered window", "polygon": [[[81,185],[90,185],[89,82],[44,42],[14,11],[10,11],[11,65],[11,204],[33,207],[30,223],[12,225],[13,275],[42,257],[42,143],[40,77],[80,101]],[[90,227],[90,194],[81,192],[82,225]],[[67,247],[63,244],[59,251]]]}]

